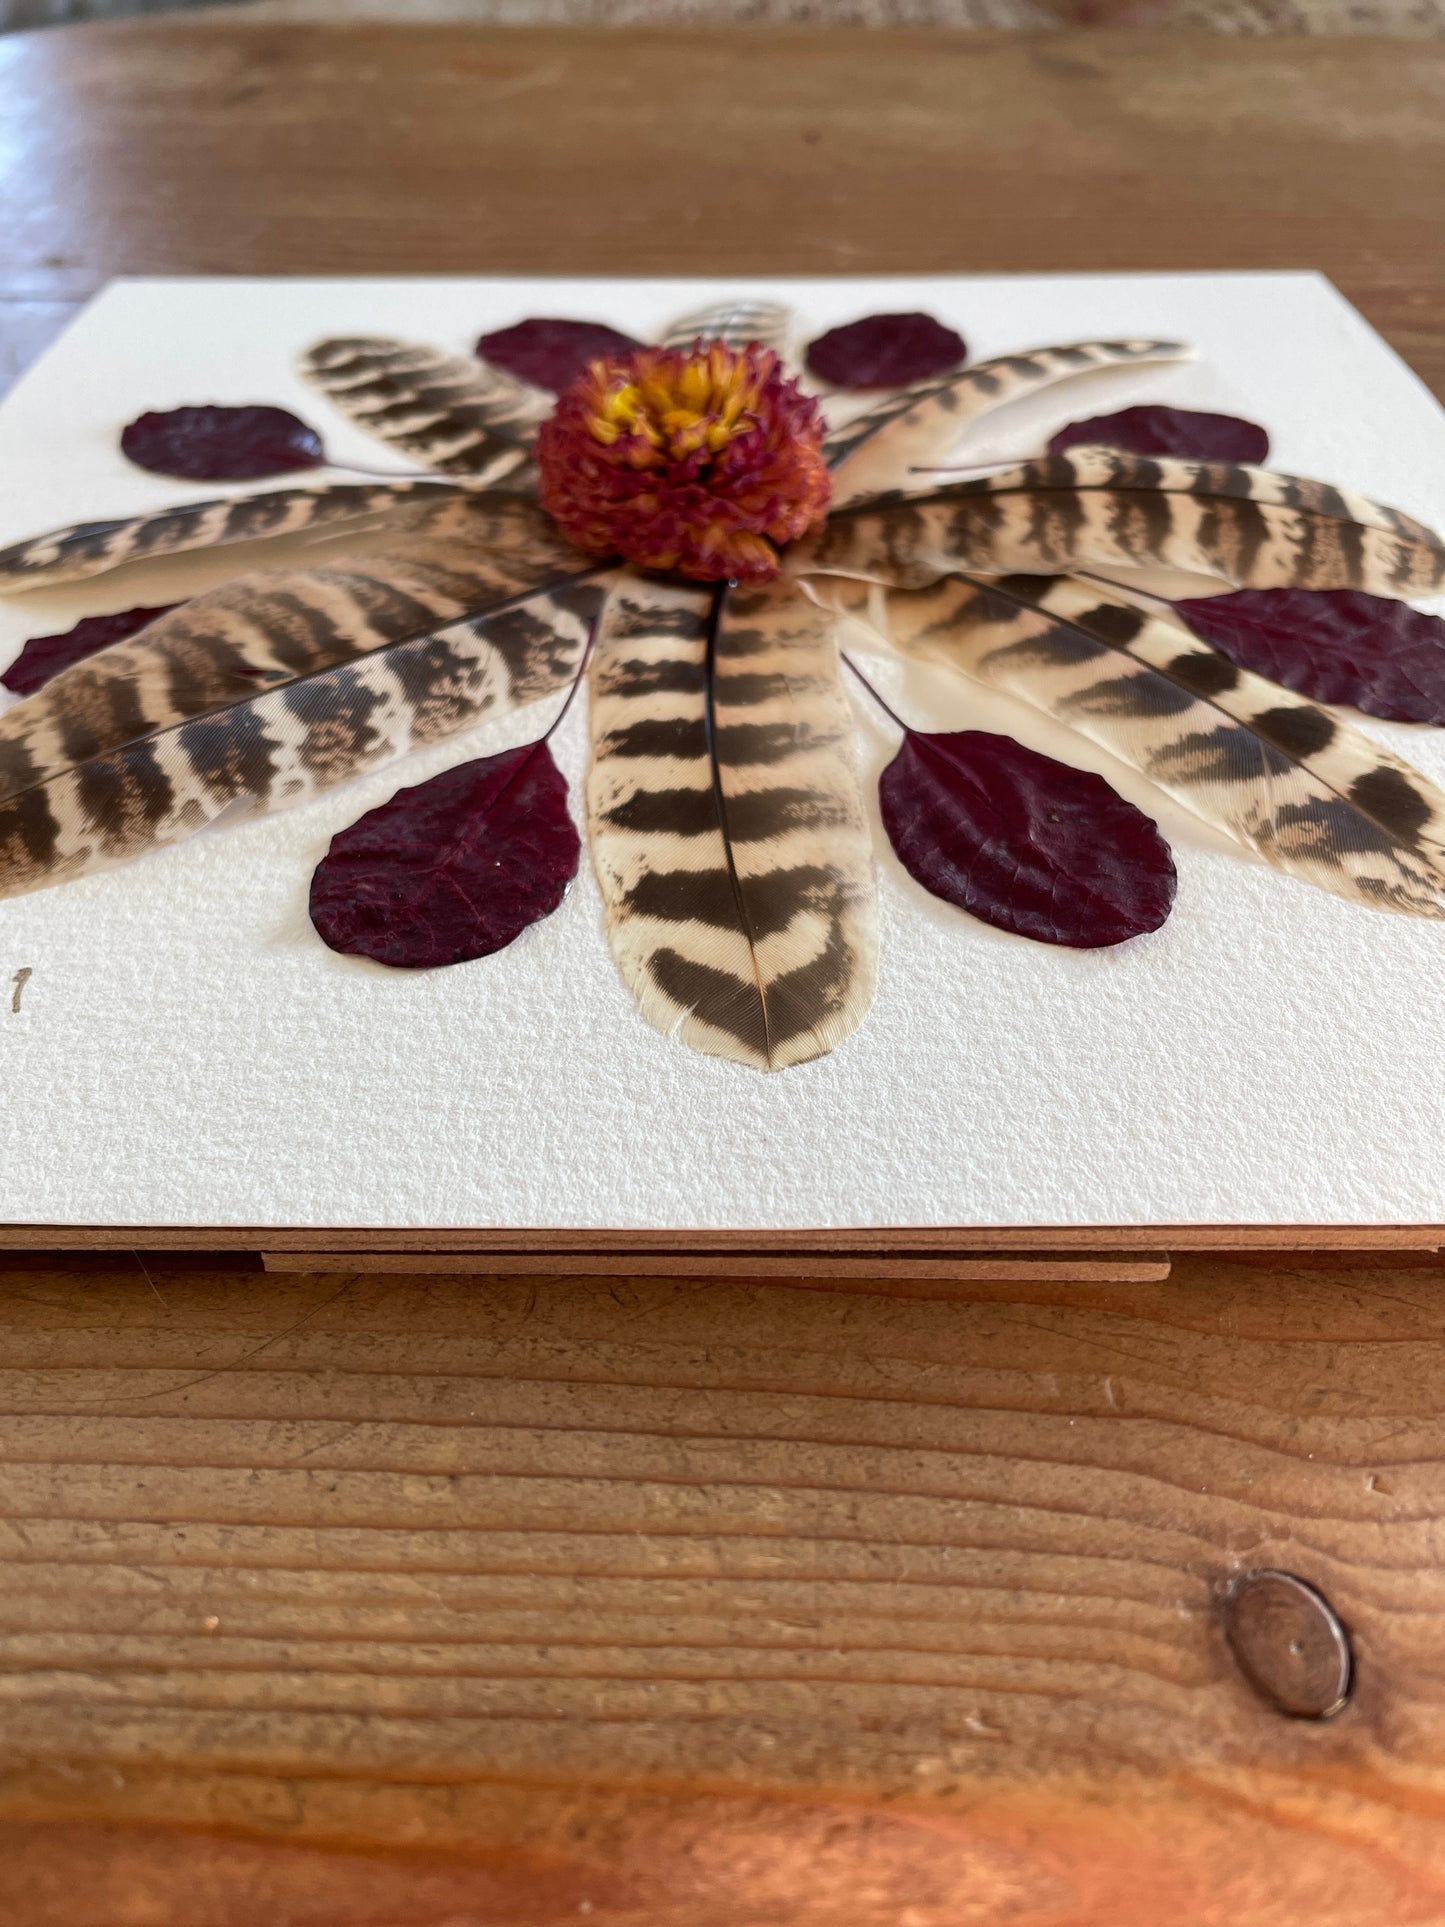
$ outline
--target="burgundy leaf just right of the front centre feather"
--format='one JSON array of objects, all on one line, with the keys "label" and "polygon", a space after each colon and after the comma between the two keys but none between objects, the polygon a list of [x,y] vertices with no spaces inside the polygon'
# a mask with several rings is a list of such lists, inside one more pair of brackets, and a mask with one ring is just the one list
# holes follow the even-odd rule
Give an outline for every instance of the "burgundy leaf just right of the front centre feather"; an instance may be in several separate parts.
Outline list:
[{"label": "burgundy leaf just right of the front centre feather", "polygon": [[1143,809],[1012,736],[907,730],[879,802],[904,869],[1000,931],[1098,950],[1169,915],[1173,858]]}]

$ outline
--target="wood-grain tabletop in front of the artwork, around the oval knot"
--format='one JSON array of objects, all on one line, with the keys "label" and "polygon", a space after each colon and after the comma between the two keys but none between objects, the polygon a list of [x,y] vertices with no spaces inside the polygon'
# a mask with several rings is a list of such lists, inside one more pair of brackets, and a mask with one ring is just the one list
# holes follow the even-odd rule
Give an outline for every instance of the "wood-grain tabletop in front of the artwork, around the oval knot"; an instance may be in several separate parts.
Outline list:
[{"label": "wood-grain tabletop in front of the artwork, around the oval knot", "polygon": [[[1433,1270],[106,1262],[0,1278],[17,1927],[1445,1917]],[[1254,1567],[1349,1626],[1327,1725]]]}]

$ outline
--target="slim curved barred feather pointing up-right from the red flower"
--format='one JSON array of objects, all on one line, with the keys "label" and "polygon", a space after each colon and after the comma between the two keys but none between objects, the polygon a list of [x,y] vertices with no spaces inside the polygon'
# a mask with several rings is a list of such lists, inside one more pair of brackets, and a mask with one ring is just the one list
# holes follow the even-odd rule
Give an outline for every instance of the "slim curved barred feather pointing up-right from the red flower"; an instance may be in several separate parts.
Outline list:
[{"label": "slim curved barred feather pointing up-right from the red flower", "polygon": [[940,462],[979,416],[1044,387],[1144,362],[1191,360],[1183,341],[1075,341],[1027,355],[998,355],[961,374],[913,382],[834,428],[823,443],[838,507],[927,488],[915,470]]}]

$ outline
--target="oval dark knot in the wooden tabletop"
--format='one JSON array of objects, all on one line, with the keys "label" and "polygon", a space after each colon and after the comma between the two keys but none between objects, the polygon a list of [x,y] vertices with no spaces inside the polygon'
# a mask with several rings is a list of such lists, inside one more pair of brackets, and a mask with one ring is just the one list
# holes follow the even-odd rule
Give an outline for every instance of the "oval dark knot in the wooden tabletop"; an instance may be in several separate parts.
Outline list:
[{"label": "oval dark knot in the wooden tabletop", "polygon": [[1223,1636],[1254,1692],[1291,1719],[1331,1719],[1354,1684],[1339,1615],[1293,1572],[1241,1572],[1223,1601]]}]

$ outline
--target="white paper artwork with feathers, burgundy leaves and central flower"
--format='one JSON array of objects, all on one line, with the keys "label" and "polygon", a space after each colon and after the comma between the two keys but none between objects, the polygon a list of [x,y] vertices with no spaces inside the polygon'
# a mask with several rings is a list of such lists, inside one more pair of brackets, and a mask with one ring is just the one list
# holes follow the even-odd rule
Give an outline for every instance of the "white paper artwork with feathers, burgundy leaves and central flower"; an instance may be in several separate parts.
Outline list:
[{"label": "white paper artwork with feathers, burgundy leaves and central flower", "polygon": [[[170,368],[141,287],[0,526],[0,967],[35,1039],[0,1044],[40,1075],[75,1021],[46,931],[89,929],[150,1062],[220,996],[268,1116],[320,1083],[324,1162],[349,1106],[453,1181],[482,1112],[530,1158],[443,1206],[393,1139],[322,1222],[1293,1218],[1247,1195],[1260,1116],[1275,1177],[1326,1089],[1364,1141],[1401,1096],[1433,1129],[1433,1071],[1393,1066],[1391,1110],[1362,1052],[1372,1002],[1379,1056],[1445,994],[1439,474],[1378,482],[1403,418],[1445,441],[1322,283],[412,283],[372,326],[364,285],[252,283]],[[1368,374],[1310,393],[1347,324]],[[1312,436],[1314,474],[1279,453]],[[241,1068],[258,977],[285,1058]],[[788,1175],[738,1133],[794,1137]],[[1316,1175],[1320,1216],[1389,1214]],[[220,1193],[200,1218],[306,1222]]]}]

